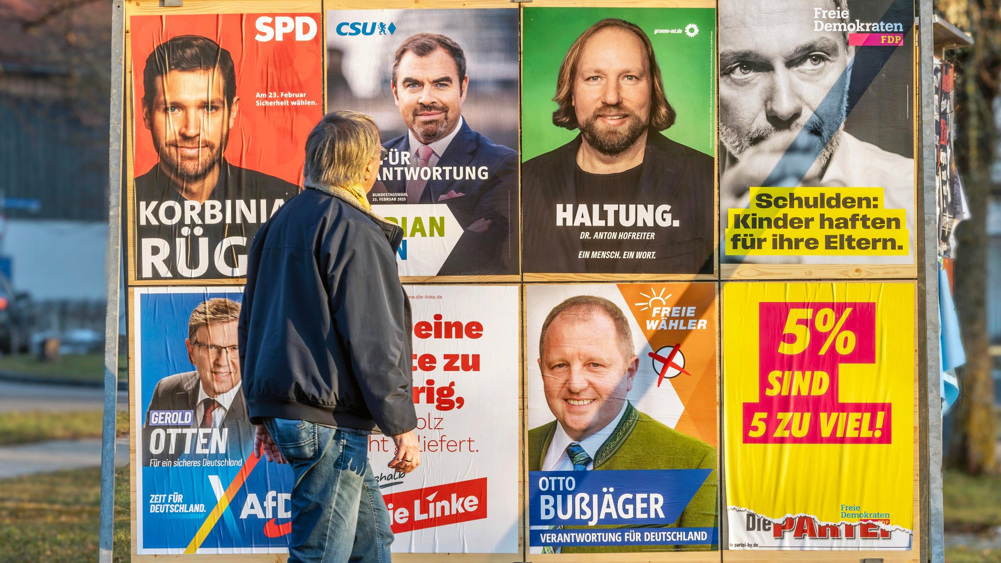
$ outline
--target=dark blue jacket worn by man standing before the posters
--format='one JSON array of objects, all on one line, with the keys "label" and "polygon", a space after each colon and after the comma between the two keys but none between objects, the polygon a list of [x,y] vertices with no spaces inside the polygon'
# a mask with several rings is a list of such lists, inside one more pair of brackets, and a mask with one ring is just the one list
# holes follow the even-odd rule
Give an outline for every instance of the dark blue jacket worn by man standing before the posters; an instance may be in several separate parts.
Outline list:
[{"label": "dark blue jacket worn by man standing before the posters", "polygon": [[395,251],[402,230],[305,189],[254,237],[239,321],[250,420],[416,427],[410,308]]}]

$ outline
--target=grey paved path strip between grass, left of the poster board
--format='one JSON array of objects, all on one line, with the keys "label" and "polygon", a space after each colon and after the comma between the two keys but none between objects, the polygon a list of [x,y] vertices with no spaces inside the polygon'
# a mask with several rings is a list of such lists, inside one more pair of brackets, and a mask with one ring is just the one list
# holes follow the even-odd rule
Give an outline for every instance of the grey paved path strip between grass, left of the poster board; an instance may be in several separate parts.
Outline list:
[{"label": "grey paved path strip between grass, left of the poster board", "polygon": [[[115,444],[115,465],[128,463],[128,439]],[[0,479],[101,465],[101,440],[57,440],[0,447]]]}]

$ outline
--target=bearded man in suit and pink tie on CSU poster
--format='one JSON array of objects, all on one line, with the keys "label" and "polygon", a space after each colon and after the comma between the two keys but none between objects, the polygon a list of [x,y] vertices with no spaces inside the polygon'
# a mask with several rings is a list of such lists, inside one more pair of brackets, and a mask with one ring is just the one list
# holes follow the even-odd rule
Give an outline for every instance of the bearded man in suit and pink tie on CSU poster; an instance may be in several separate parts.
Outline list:
[{"label": "bearded man in suit and pink tie on CSU poster", "polygon": [[[371,199],[448,205],[463,230],[438,275],[517,273],[518,152],[462,117],[465,69],[462,48],[444,35],[417,33],[396,48],[392,96],[408,131],[384,143],[397,164],[382,162]],[[406,176],[420,168],[430,177]]]}]

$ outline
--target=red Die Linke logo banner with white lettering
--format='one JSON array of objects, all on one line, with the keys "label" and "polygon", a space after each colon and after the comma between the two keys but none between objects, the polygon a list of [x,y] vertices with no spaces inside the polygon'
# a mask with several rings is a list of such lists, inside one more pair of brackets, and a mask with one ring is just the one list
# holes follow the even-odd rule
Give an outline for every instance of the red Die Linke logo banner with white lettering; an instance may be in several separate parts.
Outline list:
[{"label": "red Die Linke logo banner with white lettering", "polygon": [[486,478],[382,495],[394,534],[486,518]]}]

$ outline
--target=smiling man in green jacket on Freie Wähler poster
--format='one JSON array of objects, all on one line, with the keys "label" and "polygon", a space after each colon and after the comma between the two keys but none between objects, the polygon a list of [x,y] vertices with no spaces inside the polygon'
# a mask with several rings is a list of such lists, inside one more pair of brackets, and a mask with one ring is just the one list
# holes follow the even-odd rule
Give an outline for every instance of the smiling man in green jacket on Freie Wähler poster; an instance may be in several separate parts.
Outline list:
[{"label": "smiling man in green jacket on Freie W\u00e4hler poster", "polygon": [[[717,526],[716,448],[668,428],[627,400],[639,359],[629,321],[615,304],[593,296],[561,303],[543,323],[539,353],[546,403],[556,420],[529,431],[529,471],[712,469],[682,515],[666,527]],[[553,549],[561,553],[619,553],[711,548],[617,545]]]}]

